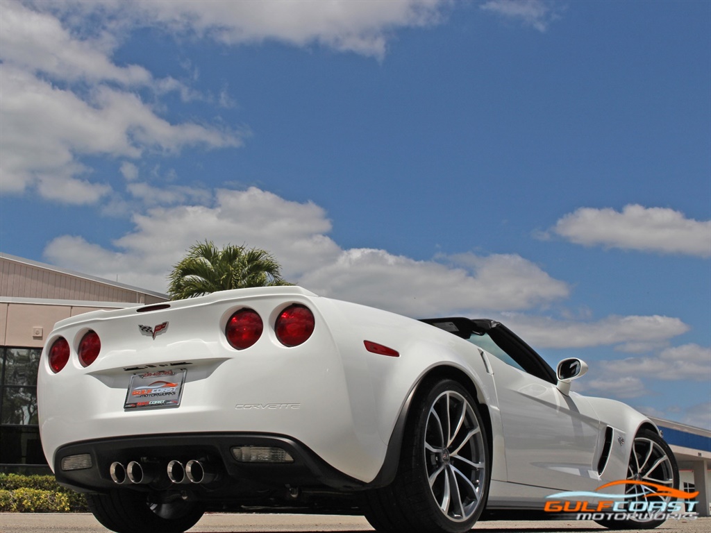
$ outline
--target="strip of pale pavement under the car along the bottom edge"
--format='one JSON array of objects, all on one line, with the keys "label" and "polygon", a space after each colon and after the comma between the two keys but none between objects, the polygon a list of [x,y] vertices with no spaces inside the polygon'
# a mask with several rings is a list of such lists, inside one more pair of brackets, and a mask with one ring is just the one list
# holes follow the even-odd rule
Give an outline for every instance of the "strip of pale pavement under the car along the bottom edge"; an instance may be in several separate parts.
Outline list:
[{"label": "strip of pale pavement under the car along the bottom edge", "polygon": [[[210,513],[190,529],[189,533],[355,533],[362,531],[373,531],[373,528],[363,517]],[[587,521],[487,521],[478,522],[472,529],[473,533],[584,533],[601,531],[606,531],[606,529],[595,522]],[[653,531],[665,533],[708,533],[711,531],[711,518],[668,520]],[[107,529],[102,527],[89,514],[0,513],[0,532],[107,533]]]}]

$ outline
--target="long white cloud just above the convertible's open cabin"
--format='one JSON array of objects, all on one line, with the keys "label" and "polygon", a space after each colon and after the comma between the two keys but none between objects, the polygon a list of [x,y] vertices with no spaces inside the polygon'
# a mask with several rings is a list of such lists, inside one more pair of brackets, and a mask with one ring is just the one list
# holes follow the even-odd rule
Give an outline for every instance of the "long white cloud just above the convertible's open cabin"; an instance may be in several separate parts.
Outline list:
[{"label": "long white cloud just above the convertible's open cabin", "polygon": [[385,250],[350,249],[309,271],[301,284],[324,296],[408,316],[525,309],[565,298],[567,284],[518,255],[450,258],[453,266]]}]

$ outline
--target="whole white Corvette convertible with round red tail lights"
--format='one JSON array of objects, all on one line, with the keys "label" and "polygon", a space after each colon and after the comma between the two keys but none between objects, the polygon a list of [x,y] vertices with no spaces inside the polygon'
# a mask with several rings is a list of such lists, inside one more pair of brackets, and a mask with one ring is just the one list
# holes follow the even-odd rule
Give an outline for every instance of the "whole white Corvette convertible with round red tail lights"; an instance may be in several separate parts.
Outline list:
[{"label": "whole white Corvette convertible with round red tail lights", "polygon": [[183,532],[205,510],[245,508],[455,533],[485,510],[542,511],[560,491],[678,488],[650,420],[570,392],[586,370],[572,358],[553,371],[496,321],[240,289],[57,323],[40,431],[58,481],[121,533]]}]

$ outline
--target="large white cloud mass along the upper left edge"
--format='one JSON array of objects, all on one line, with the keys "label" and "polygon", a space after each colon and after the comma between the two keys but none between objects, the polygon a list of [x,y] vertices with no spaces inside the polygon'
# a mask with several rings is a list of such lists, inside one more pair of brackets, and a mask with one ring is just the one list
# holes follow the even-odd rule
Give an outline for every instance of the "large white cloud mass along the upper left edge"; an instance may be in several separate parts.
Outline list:
[{"label": "large white cloud mass along the upper left edge", "polygon": [[135,159],[147,150],[174,154],[186,146],[240,146],[236,131],[160,117],[135,87],[183,96],[189,90],[170,78],[154,80],[137,65],[115,65],[116,39],[106,31],[86,37],[63,26],[77,20],[87,23],[80,16],[60,21],[19,2],[4,2],[0,9],[2,194],[30,188],[62,203],[96,203],[111,187],[95,183],[84,156]]}]

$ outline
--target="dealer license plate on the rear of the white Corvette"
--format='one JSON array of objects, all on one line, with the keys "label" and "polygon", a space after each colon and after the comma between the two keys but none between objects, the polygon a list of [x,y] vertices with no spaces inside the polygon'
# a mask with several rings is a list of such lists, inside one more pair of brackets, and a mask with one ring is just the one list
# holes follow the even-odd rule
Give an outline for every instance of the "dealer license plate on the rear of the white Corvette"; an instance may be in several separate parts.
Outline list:
[{"label": "dealer license plate on the rear of the white Corvette", "polygon": [[178,407],[187,374],[187,370],[181,369],[132,375],[124,409]]}]

